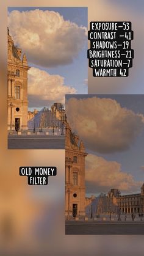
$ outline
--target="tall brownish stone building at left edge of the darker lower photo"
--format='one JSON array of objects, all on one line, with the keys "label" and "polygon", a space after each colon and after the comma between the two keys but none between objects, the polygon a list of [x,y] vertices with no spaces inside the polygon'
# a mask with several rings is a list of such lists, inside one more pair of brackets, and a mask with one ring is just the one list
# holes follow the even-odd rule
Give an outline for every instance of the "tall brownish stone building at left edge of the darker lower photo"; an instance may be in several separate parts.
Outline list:
[{"label": "tall brownish stone building at left edge of the darker lower photo", "polygon": [[85,215],[85,147],[66,122],[65,135],[65,215]]}]

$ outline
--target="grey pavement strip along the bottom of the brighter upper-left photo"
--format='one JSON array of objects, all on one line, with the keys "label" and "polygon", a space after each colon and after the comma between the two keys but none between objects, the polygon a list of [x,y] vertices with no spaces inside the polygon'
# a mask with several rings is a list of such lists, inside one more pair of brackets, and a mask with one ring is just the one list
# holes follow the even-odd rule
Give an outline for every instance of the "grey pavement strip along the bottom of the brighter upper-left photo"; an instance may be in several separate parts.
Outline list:
[{"label": "grey pavement strip along the bottom of the brighter upper-left photo", "polygon": [[9,149],[65,149],[65,136],[9,135]]}]

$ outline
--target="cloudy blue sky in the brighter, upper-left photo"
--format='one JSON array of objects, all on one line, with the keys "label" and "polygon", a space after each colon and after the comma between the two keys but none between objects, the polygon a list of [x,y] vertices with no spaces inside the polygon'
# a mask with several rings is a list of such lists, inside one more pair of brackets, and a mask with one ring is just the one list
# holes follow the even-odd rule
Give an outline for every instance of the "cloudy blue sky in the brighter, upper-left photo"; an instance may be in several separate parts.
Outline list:
[{"label": "cloudy blue sky in the brighter, upper-left photo", "polygon": [[31,67],[29,110],[87,93],[86,7],[9,7],[8,25]]}]

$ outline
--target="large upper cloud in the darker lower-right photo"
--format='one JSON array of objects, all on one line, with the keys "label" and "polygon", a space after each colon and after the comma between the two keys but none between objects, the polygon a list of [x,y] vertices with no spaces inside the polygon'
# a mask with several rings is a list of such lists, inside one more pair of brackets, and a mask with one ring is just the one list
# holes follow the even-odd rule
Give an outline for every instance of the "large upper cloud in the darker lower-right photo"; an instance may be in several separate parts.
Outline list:
[{"label": "large upper cloud in the darker lower-right photo", "polygon": [[110,98],[70,98],[67,117],[85,146],[100,153],[127,150],[140,134],[143,117]]}]

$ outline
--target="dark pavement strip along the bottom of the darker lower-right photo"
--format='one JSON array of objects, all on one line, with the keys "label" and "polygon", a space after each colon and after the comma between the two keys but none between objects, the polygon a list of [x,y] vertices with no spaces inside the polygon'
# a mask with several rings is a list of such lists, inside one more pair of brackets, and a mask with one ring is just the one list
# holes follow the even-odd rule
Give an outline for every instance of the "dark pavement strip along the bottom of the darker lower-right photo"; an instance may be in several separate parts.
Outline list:
[{"label": "dark pavement strip along the bottom of the darker lower-right photo", "polygon": [[66,221],[66,235],[144,235],[144,222]]}]

